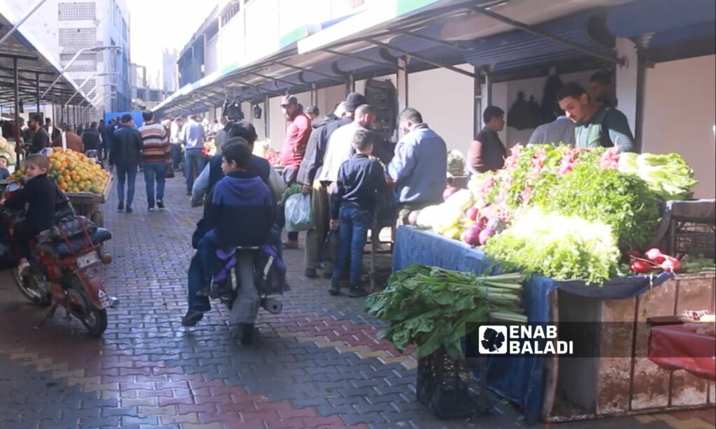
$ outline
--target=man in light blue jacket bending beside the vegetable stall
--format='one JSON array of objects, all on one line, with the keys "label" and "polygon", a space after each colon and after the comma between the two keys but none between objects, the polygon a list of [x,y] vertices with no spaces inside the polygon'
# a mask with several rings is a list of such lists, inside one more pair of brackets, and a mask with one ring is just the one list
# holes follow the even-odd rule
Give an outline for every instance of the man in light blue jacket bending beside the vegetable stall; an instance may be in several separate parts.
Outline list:
[{"label": "man in light blue jacket bending beside the vegetable stall", "polygon": [[398,225],[407,225],[411,211],[442,202],[448,176],[448,147],[422,122],[422,115],[415,109],[403,110],[398,124],[403,137],[395,147],[387,174],[395,182],[401,205]]}]

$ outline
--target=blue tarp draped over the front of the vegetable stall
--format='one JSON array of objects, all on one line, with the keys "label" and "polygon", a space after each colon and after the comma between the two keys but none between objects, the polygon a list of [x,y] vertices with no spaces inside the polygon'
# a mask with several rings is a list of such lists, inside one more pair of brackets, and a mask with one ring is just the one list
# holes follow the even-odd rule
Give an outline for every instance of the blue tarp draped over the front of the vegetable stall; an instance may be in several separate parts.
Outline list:
[{"label": "blue tarp draped over the front of the vegetable stall", "polygon": [[[398,227],[392,270],[402,270],[414,263],[478,274],[488,269],[495,271],[493,262],[488,260],[484,252],[463,242],[414,227]],[[647,276],[620,277],[601,286],[588,286],[580,280],[558,281],[533,275],[525,285],[523,307],[530,322],[548,322],[549,296],[557,288],[601,300],[621,300],[641,295],[671,277],[669,273],[662,273],[653,279]],[[536,423],[540,419],[544,390],[543,358],[540,356],[490,359],[488,385],[495,393],[521,405],[527,423]]]}]

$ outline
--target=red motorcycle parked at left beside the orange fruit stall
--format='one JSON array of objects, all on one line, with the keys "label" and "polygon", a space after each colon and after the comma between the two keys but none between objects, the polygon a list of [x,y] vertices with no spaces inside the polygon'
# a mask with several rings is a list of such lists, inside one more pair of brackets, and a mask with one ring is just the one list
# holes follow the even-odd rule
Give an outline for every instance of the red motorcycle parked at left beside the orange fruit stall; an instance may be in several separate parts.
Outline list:
[{"label": "red motorcycle parked at left beside the orange fruit stall", "polygon": [[[20,188],[21,184],[10,184],[5,197],[10,197]],[[47,315],[36,329],[54,316],[57,307],[63,307],[67,315],[77,317],[92,335],[102,335],[107,329],[107,308],[114,308],[119,303],[116,298],[107,295],[97,270],[100,263],[112,260],[109,255],[102,254],[102,243],[110,240],[112,235],[104,228],[87,227],[85,220],[74,214],[67,197],[59,189],[57,193],[57,226],[52,231],[43,232],[37,242],[31,243],[29,272],[20,277],[13,269],[13,279],[28,300],[43,307],[49,306]],[[0,205],[0,215],[8,230],[15,260],[19,261],[13,231],[23,214],[11,212]],[[63,228],[67,222],[75,222],[71,235]]]}]

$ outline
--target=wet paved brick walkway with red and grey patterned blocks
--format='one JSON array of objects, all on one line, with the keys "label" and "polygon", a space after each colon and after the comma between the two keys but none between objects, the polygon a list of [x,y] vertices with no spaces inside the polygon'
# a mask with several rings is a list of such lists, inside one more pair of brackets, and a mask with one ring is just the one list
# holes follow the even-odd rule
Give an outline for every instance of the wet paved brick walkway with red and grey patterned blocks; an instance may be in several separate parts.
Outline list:
[{"label": "wet paved brick walkway with red and grey patterned blocks", "polygon": [[[327,280],[302,277],[301,251],[285,252],[293,290],[284,311],[261,311],[243,347],[216,307],[185,328],[190,209],[183,180],[168,181],[164,212],[149,213],[137,179],[135,213],[105,206],[115,261],[107,289],[120,299],[101,340],[61,313],[41,330],[0,274],[0,428],[515,428],[496,402],[472,421],[441,421],[415,400],[415,360],[377,340],[362,300],[329,297]],[[563,428],[713,428],[708,412],[652,415]]]}]

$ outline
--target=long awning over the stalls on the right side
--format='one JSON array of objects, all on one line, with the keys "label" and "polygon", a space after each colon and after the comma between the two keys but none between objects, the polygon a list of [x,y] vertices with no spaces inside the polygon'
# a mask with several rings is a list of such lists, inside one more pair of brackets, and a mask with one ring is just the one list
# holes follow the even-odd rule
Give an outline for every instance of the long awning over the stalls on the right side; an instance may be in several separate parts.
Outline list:
[{"label": "long awning over the stalls on the right side", "polygon": [[[400,5],[407,9],[397,16]],[[300,40],[295,49],[281,52],[283,59],[205,77],[155,110],[180,114],[218,106],[229,89],[238,92],[236,99],[258,102],[266,95],[344,84],[349,74],[355,80],[395,74],[396,59],[405,56],[410,72],[440,66],[474,76],[454,67],[471,64],[499,82],[544,75],[552,66],[568,72],[619,64],[617,36],[637,41],[644,58],[659,61],[683,54],[684,42],[713,51],[714,2],[688,5],[679,0],[392,0],[381,11],[368,9]]]}]

